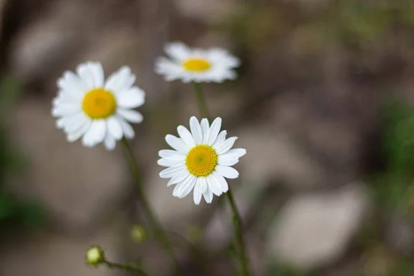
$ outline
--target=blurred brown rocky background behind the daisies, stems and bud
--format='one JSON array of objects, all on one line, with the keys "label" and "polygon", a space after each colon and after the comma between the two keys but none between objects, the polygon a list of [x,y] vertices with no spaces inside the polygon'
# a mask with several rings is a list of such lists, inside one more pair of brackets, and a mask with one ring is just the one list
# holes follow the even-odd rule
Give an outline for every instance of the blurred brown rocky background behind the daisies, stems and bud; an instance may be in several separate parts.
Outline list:
[{"label": "blurred brown rocky background behind the daisies, stems and bud", "polygon": [[[146,90],[132,141],[186,275],[236,275],[231,217],[160,179],[164,136],[199,115],[191,86],[153,72],[168,41],[226,48],[239,79],[204,86],[248,154],[230,180],[253,275],[414,275],[414,3],[408,0],[1,0],[0,275],[171,275],[120,146],[68,144],[50,116],[78,63],[128,65]],[[224,203],[224,202],[223,202]]]}]

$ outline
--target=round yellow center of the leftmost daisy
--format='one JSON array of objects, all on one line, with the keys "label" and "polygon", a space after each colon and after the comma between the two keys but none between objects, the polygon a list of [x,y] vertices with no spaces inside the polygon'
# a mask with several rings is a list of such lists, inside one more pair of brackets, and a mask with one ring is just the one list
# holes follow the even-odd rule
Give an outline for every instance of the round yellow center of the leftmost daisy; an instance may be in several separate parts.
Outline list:
[{"label": "round yellow center of the leftmost daisy", "polygon": [[105,119],[115,113],[117,101],[112,92],[96,88],[83,97],[82,109],[92,119]]}]

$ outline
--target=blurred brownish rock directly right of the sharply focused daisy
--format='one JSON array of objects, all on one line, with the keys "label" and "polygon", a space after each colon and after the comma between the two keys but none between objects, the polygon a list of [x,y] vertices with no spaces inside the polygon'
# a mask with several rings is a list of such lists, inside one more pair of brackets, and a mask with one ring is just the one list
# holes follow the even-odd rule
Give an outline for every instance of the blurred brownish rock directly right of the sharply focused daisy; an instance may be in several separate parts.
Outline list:
[{"label": "blurred brownish rock directly right of the sharply focused daisy", "polygon": [[235,147],[246,148],[247,154],[237,166],[244,178],[254,181],[255,186],[279,180],[290,188],[311,188],[324,177],[323,168],[269,124],[248,126],[230,135],[243,138]]}]

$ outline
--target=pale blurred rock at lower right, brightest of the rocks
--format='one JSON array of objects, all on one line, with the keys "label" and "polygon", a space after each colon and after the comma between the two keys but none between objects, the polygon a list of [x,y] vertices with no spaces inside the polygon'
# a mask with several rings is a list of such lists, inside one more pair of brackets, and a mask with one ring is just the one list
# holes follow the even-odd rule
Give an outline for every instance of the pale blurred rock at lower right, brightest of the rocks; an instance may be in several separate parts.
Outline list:
[{"label": "pale blurred rock at lower right, brightest of the rocks", "polygon": [[270,226],[267,252],[302,268],[329,264],[344,253],[367,207],[368,196],[361,184],[293,197]]}]

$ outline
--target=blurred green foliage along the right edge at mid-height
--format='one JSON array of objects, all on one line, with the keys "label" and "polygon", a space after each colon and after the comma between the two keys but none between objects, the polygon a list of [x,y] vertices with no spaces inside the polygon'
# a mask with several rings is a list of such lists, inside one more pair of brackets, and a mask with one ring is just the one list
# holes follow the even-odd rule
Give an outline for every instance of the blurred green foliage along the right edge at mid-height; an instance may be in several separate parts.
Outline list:
[{"label": "blurred green foliage along the right edge at mid-height", "polygon": [[378,206],[405,213],[414,203],[414,108],[389,101],[382,110],[384,170],[371,181]]}]

